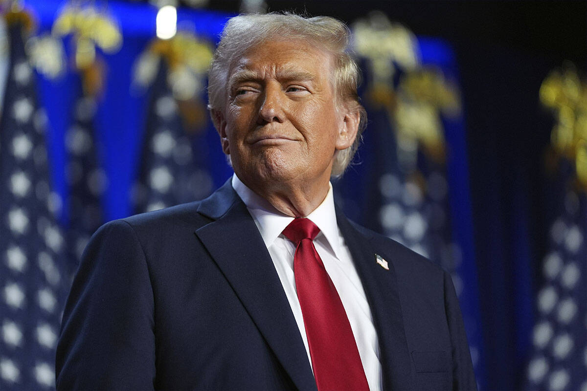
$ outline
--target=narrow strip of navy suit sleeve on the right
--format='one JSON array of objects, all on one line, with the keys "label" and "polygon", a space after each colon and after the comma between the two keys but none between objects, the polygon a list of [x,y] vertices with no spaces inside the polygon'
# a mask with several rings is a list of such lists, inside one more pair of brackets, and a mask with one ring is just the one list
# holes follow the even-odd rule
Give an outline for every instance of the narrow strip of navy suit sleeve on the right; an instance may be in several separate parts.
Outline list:
[{"label": "narrow strip of navy suit sleeve on the right", "polygon": [[453,281],[448,273],[444,273],[444,306],[453,347],[453,390],[476,391],[477,381],[471,363],[471,352],[465,334],[463,315],[458,304]]}]

